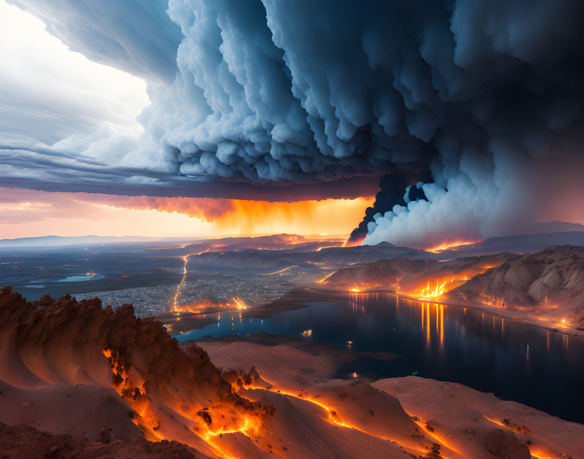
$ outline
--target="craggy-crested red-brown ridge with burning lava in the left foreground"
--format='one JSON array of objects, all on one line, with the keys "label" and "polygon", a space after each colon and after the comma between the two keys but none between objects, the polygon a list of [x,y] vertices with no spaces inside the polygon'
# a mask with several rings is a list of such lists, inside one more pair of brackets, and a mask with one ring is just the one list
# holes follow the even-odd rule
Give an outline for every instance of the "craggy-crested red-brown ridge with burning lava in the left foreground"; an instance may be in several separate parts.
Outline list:
[{"label": "craggy-crested red-brown ridge with burning lava in the left foreground", "polygon": [[[151,441],[176,440],[211,457],[233,457],[241,454],[229,436],[263,435],[273,414],[269,404],[235,394],[203,349],[180,348],[161,322],[135,317],[131,305],[113,311],[98,298],[77,302],[69,295],[26,301],[7,287],[0,289],[0,330],[7,338],[3,349],[12,349],[9,358],[0,355],[0,385],[30,391],[26,397],[44,397],[38,390],[84,391],[95,405],[70,403],[68,410],[91,423],[87,435],[109,425],[117,439],[140,434]],[[113,390],[119,398],[112,397]],[[85,409],[91,415],[81,416]]]}]

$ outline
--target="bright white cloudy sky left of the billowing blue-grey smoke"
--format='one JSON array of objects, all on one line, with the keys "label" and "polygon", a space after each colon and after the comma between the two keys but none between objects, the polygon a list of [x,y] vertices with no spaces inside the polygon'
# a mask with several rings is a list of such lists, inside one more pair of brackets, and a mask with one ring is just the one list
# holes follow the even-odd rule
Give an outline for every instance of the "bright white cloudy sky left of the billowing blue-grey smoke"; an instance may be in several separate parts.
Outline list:
[{"label": "bright white cloudy sky left of the billowing blue-grey smoke", "polygon": [[146,83],[70,51],[41,20],[0,0],[0,140],[54,142],[104,122],[137,137]]}]

